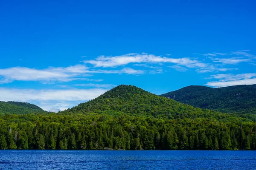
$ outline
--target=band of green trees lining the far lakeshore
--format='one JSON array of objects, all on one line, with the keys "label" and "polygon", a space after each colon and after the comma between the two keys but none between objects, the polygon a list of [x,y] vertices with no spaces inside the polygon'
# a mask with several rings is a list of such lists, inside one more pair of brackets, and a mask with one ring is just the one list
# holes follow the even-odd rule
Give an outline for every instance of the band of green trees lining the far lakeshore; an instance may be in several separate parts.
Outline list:
[{"label": "band of green trees lining the far lakeshore", "polygon": [[3,115],[0,149],[256,150],[256,122],[98,113]]}]

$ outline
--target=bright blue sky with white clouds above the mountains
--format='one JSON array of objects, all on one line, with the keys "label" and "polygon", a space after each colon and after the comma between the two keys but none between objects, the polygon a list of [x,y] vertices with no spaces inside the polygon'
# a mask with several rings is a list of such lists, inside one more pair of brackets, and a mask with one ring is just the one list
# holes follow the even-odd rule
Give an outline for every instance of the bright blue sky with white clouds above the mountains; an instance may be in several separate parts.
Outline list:
[{"label": "bright blue sky with white clouds above the mountains", "polygon": [[256,2],[4,1],[0,100],[64,110],[120,84],[256,84]]}]

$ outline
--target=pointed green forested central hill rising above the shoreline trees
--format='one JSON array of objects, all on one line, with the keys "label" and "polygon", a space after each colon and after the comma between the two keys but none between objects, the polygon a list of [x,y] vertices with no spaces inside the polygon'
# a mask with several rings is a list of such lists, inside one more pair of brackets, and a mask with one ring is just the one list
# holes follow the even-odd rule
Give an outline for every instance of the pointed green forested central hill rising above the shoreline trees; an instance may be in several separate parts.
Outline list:
[{"label": "pointed green forested central hill rising above the shoreline trees", "polygon": [[194,108],[163,96],[151,94],[132,85],[119,85],[96,99],[60,113],[128,113],[168,119],[220,116],[214,111]]}]

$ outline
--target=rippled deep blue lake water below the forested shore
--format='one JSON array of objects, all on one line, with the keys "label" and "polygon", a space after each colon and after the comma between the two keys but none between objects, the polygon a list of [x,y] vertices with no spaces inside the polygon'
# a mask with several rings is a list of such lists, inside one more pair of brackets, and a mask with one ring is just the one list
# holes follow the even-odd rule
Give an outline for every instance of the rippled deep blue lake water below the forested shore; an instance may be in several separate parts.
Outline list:
[{"label": "rippled deep blue lake water below the forested shore", "polygon": [[0,150],[0,170],[256,169],[256,151]]}]

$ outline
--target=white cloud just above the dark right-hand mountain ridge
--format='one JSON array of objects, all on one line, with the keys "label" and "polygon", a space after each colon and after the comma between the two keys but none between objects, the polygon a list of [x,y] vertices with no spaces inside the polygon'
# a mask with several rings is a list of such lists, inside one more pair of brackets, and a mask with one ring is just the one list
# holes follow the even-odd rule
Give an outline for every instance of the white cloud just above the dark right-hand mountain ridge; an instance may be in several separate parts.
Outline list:
[{"label": "white cloud just above the dark right-hand mountain ridge", "polygon": [[216,74],[210,78],[218,81],[207,82],[206,85],[212,87],[226,87],[230,85],[252,85],[256,84],[256,73],[247,74]]}]

